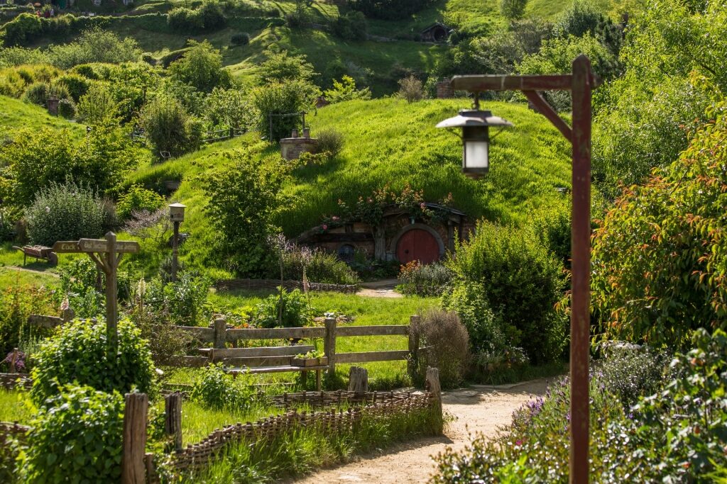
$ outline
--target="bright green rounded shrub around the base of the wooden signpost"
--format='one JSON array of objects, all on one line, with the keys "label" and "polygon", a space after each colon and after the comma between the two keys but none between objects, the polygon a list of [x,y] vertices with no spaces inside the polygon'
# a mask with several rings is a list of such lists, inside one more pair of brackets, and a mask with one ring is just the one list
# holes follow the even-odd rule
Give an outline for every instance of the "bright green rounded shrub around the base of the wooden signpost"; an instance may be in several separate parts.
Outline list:
[{"label": "bright green rounded shrub around the base of the wooden signpost", "polygon": [[31,398],[49,400],[63,385],[88,385],[103,392],[153,391],[154,364],[148,343],[129,321],[119,321],[119,349],[109,358],[104,321],[73,321],[47,340],[36,353]]}]

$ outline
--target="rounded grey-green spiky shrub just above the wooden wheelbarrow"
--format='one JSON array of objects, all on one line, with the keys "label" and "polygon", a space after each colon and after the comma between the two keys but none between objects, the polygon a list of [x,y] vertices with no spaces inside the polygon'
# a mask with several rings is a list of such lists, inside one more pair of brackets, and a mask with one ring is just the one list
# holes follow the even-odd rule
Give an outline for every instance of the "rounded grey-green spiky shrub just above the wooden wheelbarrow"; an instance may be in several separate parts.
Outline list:
[{"label": "rounded grey-green spiky shrub just above the wooden wheelbarrow", "polygon": [[103,201],[88,186],[73,181],[52,182],[42,188],[33,204],[25,210],[28,238],[39,245],[53,245],[57,240],[100,237],[103,234]]}]

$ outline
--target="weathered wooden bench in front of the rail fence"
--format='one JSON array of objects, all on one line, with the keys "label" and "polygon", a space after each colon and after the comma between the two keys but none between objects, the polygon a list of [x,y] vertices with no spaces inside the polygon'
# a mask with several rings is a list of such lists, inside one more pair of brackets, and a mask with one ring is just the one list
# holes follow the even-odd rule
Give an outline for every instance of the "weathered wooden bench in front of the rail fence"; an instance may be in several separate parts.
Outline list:
[{"label": "weathered wooden bench in front of the rail fence", "polygon": [[292,363],[298,354],[305,354],[316,348],[313,345],[260,346],[257,348],[200,348],[199,352],[209,358],[210,363],[222,363],[225,371],[236,376],[251,373],[316,372],[316,389],[321,390],[321,371],[327,364],[297,366]]}]

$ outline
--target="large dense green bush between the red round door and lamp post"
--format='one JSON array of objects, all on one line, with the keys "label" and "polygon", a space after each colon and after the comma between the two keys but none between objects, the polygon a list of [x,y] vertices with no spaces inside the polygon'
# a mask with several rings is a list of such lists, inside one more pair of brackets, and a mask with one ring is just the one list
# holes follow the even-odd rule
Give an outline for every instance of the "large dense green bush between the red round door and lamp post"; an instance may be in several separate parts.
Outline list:
[{"label": "large dense green bush between the red round door and lamp post", "polygon": [[[567,325],[554,308],[563,295],[561,265],[531,231],[478,223],[447,266],[454,273],[449,305],[468,308],[470,297],[461,300],[459,294],[473,292],[483,298],[478,304],[491,308],[505,325],[506,345],[522,346],[535,363],[561,356]],[[459,316],[467,324],[469,315]],[[470,334],[475,345],[487,344],[477,336]]]}]

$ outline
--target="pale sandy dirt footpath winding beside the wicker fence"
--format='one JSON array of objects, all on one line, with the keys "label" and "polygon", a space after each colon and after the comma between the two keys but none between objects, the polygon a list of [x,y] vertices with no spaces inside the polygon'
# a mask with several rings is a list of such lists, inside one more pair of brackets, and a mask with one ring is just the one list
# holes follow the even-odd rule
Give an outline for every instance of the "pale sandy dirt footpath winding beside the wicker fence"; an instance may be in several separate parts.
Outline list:
[{"label": "pale sandy dirt footpath winding beside the wicker fence", "polygon": [[442,437],[422,438],[387,448],[381,454],[362,456],[356,462],[324,469],[309,475],[301,484],[335,483],[425,483],[435,469],[432,456],[446,447],[464,448],[471,435],[494,436],[497,427],[510,423],[510,417],[526,401],[544,395],[550,380],[534,380],[519,385],[486,387],[443,394],[444,411],[454,416]]}]

